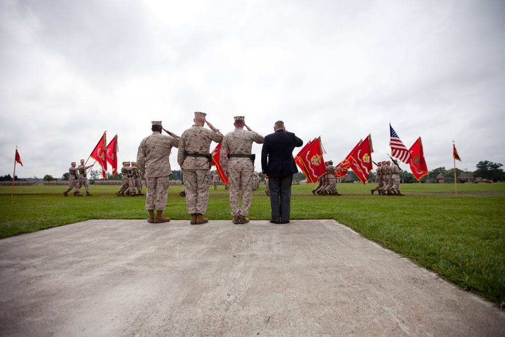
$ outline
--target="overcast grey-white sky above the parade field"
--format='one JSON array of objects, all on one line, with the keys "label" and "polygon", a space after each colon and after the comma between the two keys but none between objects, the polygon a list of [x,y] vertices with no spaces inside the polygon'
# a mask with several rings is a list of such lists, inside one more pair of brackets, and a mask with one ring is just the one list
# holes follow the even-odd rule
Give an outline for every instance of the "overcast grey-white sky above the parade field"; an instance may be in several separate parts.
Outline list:
[{"label": "overcast grey-white sky above the parade field", "polygon": [[223,134],[283,120],[337,163],[369,133],[387,159],[390,122],[429,170],[453,167],[452,140],[458,168],[505,164],[504,17],[501,0],[3,0],[0,175],[18,146],[18,177],[61,177],[104,131],[134,161],[151,120],[180,135],[195,111]]}]

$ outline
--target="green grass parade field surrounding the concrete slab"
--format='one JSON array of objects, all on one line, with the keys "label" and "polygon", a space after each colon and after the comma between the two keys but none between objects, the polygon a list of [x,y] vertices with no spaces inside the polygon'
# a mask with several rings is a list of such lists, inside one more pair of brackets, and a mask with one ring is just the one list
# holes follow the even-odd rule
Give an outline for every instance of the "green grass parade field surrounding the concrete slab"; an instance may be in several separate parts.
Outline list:
[{"label": "green grass parade field surrounding the concrete slab", "polygon": [[[0,186],[0,237],[88,219],[146,219],[145,197],[117,197],[119,186],[90,186],[92,197],[63,196],[66,186]],[[314,196],[293,185],[291,219],[335,219],[441,277],[496,304],[505,301],[505,183],[403,184],[405,197],[372,196],[373,185],[338,184],[343,196]],[[172,219],[188,219],[182,186],[170,186]],[[229,219],[224,186],[211,186],[206,216]],[[270,218],[265,185],[253,192],[251,220]],[[231,225],[231,221],[230,221]],[[1,241],[0,241],[1,244]]]}]

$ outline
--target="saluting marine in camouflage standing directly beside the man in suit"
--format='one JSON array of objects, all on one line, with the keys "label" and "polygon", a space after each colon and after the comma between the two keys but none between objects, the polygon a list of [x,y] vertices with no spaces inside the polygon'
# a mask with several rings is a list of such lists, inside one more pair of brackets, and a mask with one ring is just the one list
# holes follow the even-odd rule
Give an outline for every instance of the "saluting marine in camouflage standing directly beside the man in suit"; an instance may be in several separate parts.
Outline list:
[{"label": "saluting marine in camouflage standing directly beside the man in suit", "polygon": [[[235,116],[235,130],[227,133],[221,143],[220,164],[228,176],[230,186],[230,206],[233,223],[247,223],[254,184],[254,155],[252,142],[263,144],[263,136],[252,131],[244,121],[244,116]],[[247,130],[244,130],[244,126]],[[229,155],[227,156],[229,152]],[[229,158],[229,160],[228,160]],[[238,205],[240,190],[242,203]]]}]

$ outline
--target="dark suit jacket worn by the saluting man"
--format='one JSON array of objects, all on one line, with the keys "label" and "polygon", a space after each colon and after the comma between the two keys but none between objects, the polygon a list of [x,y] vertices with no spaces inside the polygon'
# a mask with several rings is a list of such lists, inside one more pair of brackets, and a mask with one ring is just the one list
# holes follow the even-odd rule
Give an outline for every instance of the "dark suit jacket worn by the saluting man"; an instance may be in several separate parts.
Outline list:
[{"label": "dark suit jacket worn by the saluting man", "polygon": [[292,132],[278,129],[265,136],[261,150],[261,170],[269,177],[285,177],[298,172],[293,158],[295,147],[301,147],[304,141]]}]

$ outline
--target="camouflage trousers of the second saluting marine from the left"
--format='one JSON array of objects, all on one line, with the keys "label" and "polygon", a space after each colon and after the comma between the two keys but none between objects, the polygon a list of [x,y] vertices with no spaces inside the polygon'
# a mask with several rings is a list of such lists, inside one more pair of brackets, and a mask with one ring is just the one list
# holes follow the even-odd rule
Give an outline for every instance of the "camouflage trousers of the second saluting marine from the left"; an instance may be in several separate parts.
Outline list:
[{"label": "camouflage trousers of the second saluting marine from the left", "polygon": [[186,207],[189,214],[205,214],[209,202],[209,187],[211,186],[210,170],[188,170],[184,173],[184,188],[186,191]]}]

